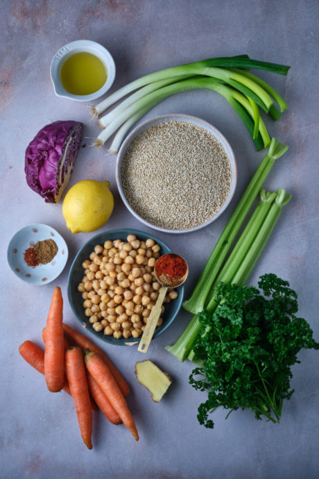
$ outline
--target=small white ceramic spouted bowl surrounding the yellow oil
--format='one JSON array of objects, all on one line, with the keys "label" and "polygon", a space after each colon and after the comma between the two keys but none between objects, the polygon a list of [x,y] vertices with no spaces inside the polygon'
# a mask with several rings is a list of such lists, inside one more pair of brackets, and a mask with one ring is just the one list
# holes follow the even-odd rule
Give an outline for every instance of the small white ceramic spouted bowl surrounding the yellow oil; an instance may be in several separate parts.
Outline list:
[{"label": "small white ceramic spouted bowl surrounding the yellow oil", "polygon": [[[60,78],[61,67],[65,60],[67,60],[69,56],[74,55],[74,53],[79,53],[81,51],[92,53],[97,56],[101,62],[103,62],[107,71],[107,79],[103,87],[89,95],[74,95],[67,92],[63,87]],[[92,40],[76,40],[75,42],[67,43],[55,53],[55,56],[53,56],[51,61],[50,74],[54,91],[57,96],[64,96],[64,98],[70,98],[76,101],[92,101],[105,94],[107,90],[110,90],[115,78],[115,64],[110,52],[101,44],[92,42]]]}]

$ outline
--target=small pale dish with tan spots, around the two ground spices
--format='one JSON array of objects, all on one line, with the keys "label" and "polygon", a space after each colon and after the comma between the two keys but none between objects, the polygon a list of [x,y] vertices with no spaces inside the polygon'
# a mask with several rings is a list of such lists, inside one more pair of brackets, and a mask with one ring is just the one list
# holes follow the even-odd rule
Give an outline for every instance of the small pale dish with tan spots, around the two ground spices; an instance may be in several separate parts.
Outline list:
[{"label": "small pale dish with tan spots, around the two ground spices", "polygon": [[[58,246],[58,252],[53,260],[47,264],[35,267],[28,266],[24,260],[26,249],[38,241],[53,240]],[[12,237],[8,246],[8,263],[12,271],[26,283],[31,285],[46,285],[55,280],[67,264],[68,248],[58,231],[46,224],[30,224],[25,226]]]}]

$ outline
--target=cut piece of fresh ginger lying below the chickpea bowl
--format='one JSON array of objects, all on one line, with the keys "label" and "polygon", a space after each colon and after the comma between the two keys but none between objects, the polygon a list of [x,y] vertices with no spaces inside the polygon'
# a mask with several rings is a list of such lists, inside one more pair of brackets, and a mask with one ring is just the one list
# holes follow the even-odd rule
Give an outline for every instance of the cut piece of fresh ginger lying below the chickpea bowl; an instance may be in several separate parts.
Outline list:
[{"label": "cut piece of fresh ginger lying below the chickpea bowl", "polygon": [[152,399],[158,403],[173,382],[167,373],[150,360],[138,361],[135,364],[135,375],[142,386],[152,394]]}]

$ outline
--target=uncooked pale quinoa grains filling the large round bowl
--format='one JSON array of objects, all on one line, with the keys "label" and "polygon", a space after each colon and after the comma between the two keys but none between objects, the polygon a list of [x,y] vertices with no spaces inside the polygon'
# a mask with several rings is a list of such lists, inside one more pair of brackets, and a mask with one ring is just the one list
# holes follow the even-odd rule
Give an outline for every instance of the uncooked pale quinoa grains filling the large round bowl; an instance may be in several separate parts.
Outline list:
[{"label": "uncooked pale quinoa grains filling the large round bowl", "polygon": [[165,121],[135,137],[121,174],[123,192],[137,215],[170,230],[194,228],[216,215],[231,183],[221,142],[185,121]]}]

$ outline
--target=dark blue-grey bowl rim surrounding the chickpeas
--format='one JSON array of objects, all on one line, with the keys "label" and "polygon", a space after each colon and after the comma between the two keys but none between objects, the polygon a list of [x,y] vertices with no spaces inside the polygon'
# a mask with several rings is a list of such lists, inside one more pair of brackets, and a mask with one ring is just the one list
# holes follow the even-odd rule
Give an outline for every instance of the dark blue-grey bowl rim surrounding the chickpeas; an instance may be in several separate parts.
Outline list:
[{"label": "dark blue-grey bowl rim surrounding the chickpeas", "polygon": [[[161,240],[159,237],[156,237],[155,235],[153,235],[152,233],[148,233],[147,231],[142,231],[142,230],[137,230],[135,228],[114,228],[112,230],[105,230],[105,231],[102,231],[101,233],[97,233],[96,235],[92,236],[89,240],[87,240],[87,242],[85,242],[85,244],[83,244],[83,246],[79,249],[78,253],[76,253],[76,256],[71,264],[71,267],[69,269],[69,274],[68,274],[68,278],[67,278],[67,296],[68,296],[68,300],[69,300],[69,305],[71,307],[71,310],[72,312],[74,313],[77,321],[79,321],[79,323],[81,323],[81,325],[83,326],[83,319],[81,319],[77,312],[76,312],[76,309],[74,308],[74,303],[71,299],[71,274],[73,273],[74,271],[74,267],[76,266],[76,262],[78,261],[78,258],[80,256],[80,254],[83,252],[83,249],[85,249],[85,247],[89,246],[89,244],[91,242],[95,242],[99,237],[101,237],[102,235],[115,235],[115,234],[123,234],[123,235],[136,235],[137,237],[139,237],[139,235],[144,235],[145,237],[149,237],[153,240],[155,240],[155,242],[157,242],[157,244],[160,244],[161,248],[164,246],[164,248],[167,250],[167,253],[171,253],[171,249],[169,248],[169,246],[167,246],[166,243],[164,243],[163,240]],[[178,306],[178,308],[176,308],[175,312],[173,313],[171,319],[169,321],[167,321],[163,326],[160,326],[159,328],[157,328],[155,330],[155,333],[153,335],[153,339],[156,339],[158,336],[160,336],[162,333],[164,333],[164,331],[169,328],[169,326],[171,326],[171,323],[173,323],[175,317],[177,317],[178,315],[178,312],[180,312],[180,308],[182,308],[182,301],[183,301],[183,298],[184,298],[184,285],[181,285],[180,287],[178,287],[178,301],[180,303],[180,305]],[[96,330],[94,330],[93,328],[88,328],[87,325],[85,324],[85,326],[83,326],[85,328],[85,330],[89,331],[89,333],[92,333],[93,335],[95,335],[96,337],[98,337],[98,339],[101,339],[101,341],[107,343],[107,344],[114,344],[115,346],[134,346],[135,344],[138,344],[141,337],[138,337],[138,338],[120,338],[120,339],[112,339],[112,337],[110,337],[110,339],[108,339],[108,336],[105,336],[105,335],[101,335],[100,332],[97,332]],[[152,339],[152,341],[153,341]]]}]

